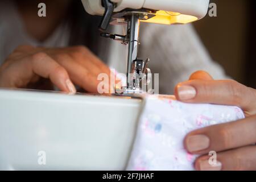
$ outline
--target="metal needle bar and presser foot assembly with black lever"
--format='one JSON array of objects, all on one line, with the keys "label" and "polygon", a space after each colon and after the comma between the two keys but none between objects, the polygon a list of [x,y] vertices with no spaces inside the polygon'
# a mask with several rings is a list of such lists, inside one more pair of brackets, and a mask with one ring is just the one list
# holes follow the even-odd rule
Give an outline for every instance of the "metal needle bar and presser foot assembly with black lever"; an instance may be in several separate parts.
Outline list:
[{"label": "metal needle bar and presser foot assembly with black lever", "polygon": [[[151,72],[150,69],[147,68],[149,59],[142,60],[137,56],[139,48],[139,26],[141,20],[148,19],[154,15],[152,14],[151,10],[142,9],[139,11],[134,11],[127,9],[120,13],[116,13],[113,16],[109,16],[108,12],[113,11],[114,4],[112,3],[112,6],[108,5],[111,3],[109,0],[104,0],[103,2],[103,5],[105,6],[105,14],[100,24],[100,30],[104,30],[104,28],[106,29],[105,24],[110,23],[111,18],[114,18],[115,22],[127,24],[126,35],[112,35],[105,32],[101,33],[101,36],[104,38],[110,38],[113,40],[118,40],[122,44],[128,44],[127,86],[125,88],[125,93],[146,92],[146,90],[143,90],[141,87],[143,84],[142,80],[146,79],[146,83],[148,83],[150,80],[147,79],[150,77],[147,77],[147,74]],[[108,7],[110,7],[110,10]]]}]

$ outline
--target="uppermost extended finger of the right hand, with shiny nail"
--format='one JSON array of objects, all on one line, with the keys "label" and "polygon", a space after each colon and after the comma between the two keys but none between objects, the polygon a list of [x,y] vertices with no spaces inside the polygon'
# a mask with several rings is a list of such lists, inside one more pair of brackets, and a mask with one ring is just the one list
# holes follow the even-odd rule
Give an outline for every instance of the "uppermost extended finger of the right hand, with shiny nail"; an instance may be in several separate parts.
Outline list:
[{"label": "uppermost extended finger of the right hand, with shiny nail", "polygon": [[250,114],[256,113],[255,90],[233,80],[182,82],[176,86],[175,96],[184,102],[236,105]]}]

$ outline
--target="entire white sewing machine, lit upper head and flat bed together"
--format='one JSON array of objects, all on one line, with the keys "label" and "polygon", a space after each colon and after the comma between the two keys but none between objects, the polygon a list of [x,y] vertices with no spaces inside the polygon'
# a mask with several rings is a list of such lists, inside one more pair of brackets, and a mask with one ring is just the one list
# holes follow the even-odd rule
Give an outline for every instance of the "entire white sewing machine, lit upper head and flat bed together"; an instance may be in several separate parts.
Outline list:
[{"label": "entire white sewing machine, lit upper head and flat bed together", "polygon": [[[149,59],[137,57],[140,22],[193,22],[207,13],[209,0],[82,3],[89,14],[102,15],[102,36],[128,45],[124,92],[141,93],[150,70]],[[109,23],[127,24],[127,34],[106,33]],[[0,89],[0,169],[125,169],[142,109],[143,100],[134,97]]]}]

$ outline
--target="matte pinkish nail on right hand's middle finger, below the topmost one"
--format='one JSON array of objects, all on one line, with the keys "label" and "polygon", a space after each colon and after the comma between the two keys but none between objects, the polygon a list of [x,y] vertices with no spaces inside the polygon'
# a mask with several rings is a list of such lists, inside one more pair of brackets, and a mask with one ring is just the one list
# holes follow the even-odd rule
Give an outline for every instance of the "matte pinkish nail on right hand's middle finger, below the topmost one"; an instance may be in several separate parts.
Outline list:
[{"label": "matte pinkish nail on right hand's middle finger, below the topmost one", "polygon": [[210,146],[210,139],[205,135],[192,135],[187,138],[186,146],[189,152],[201,151]]}]

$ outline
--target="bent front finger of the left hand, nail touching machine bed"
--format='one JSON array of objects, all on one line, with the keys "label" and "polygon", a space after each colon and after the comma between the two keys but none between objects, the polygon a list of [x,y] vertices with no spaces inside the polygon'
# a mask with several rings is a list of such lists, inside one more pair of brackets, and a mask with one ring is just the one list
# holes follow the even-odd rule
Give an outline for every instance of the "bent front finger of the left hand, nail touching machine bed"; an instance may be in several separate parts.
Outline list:
[{"label": "bent front finger of the left hand, nail touching machine bed", "polygon": [[3,74],[5,79],[2,79],[1,84],[5,87],[23,88],[28,82],[34,81],[36,75],[49,78],[64,92],[76,92],[67,71],[42,52],[23,57],[9,65]]}]

